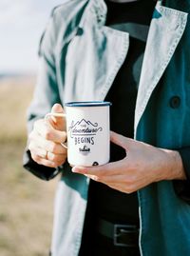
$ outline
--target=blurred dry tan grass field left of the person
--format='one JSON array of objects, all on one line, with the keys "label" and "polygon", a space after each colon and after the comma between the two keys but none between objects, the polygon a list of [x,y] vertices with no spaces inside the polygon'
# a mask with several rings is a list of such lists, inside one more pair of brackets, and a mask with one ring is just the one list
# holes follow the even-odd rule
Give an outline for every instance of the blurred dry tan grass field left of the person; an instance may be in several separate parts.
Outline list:
[{"label": "blurred dry tan grass field left of the person", "polygon": [[46,256],[57,180],[41,181],[22,167],[26,109],[34,78],[0,82],[0,255]]}]

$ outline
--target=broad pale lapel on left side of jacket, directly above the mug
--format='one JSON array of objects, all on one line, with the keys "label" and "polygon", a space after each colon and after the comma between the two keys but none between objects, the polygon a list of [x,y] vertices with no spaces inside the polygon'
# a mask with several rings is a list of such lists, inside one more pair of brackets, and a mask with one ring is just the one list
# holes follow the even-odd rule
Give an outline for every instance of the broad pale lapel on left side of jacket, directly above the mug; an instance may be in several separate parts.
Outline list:
[{"label": "broad pale lapel on left side of jacket, directly above the mug", "polygon": [[89,1],[67,49],[62,47],[66,52],[63,102],[104,100],[123,65],[129,34],[104,26],[105,18],[104,1]]}]

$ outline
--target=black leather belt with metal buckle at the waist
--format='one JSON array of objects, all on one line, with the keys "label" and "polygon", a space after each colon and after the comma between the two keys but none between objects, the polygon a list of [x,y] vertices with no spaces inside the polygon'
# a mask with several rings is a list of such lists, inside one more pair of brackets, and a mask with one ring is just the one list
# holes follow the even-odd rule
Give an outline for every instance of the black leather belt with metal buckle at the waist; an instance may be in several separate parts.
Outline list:
[{"label": "black leather belt with metal buckle at the waist", "polygon": [[139,228],[135,225],[112,224],[99,219],[97,231],[112,239],[114,246],[133,247],[139,244]]}]

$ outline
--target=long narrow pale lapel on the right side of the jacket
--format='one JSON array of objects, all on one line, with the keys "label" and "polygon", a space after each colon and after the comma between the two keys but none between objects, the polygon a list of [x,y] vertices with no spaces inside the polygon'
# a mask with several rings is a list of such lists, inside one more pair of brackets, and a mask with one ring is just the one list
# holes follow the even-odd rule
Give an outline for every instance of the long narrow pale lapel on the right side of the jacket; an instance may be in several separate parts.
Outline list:
[{"label": "long narrow pale lapel on the right side of the jacket", "polygon": [[135,111],[135,137],[142,113],[153,90],[177,48],[187,22],[187,13],[157,3],[150,25],[142,63],[142,75]]}]

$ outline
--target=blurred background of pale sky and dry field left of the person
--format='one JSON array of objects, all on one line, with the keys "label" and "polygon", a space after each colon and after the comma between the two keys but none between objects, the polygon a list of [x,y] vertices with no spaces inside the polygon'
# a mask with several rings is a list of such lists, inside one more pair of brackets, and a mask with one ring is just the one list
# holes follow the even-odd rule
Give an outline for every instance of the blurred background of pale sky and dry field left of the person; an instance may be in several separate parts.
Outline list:
[{"label": "blurred background of pale sky and dry field left of the person", "polygon": [[50,11],[66,0],[0,0],[0,255],[45,256],[57,179],[22,167],[26,111],[38,68],[38,44]]}]

